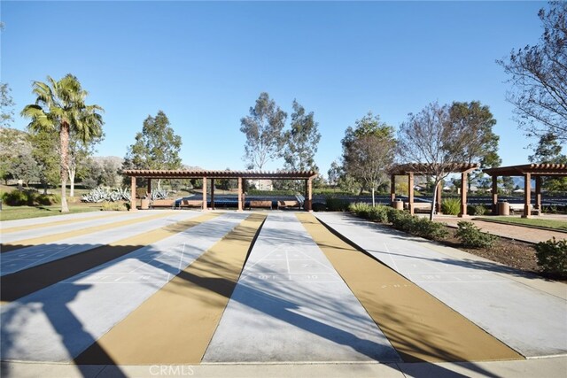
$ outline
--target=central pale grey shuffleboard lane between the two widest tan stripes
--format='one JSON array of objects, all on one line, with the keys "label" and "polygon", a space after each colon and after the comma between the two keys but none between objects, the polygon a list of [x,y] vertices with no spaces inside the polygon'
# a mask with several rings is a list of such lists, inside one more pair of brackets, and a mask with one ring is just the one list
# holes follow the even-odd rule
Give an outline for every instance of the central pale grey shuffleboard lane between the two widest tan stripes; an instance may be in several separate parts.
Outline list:
[{"label": "central pale grey shuffleboard lane between the two widest tan stripes", "polygon": [[293,213],[268,214],[203,362],[400,361]]}]

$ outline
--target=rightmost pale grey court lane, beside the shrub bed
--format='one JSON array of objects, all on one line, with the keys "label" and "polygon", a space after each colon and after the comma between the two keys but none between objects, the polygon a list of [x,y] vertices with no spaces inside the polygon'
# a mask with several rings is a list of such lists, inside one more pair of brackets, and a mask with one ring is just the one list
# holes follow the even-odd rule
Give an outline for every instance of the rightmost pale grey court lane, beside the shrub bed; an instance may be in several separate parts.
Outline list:
[{"label": "rightmost pale grey court lane, beside the shrub bed", "polygon": [[567,354],[563,297],[517,282],[496,264],[452,258],[348,214],[317,218],[525,357]]}]

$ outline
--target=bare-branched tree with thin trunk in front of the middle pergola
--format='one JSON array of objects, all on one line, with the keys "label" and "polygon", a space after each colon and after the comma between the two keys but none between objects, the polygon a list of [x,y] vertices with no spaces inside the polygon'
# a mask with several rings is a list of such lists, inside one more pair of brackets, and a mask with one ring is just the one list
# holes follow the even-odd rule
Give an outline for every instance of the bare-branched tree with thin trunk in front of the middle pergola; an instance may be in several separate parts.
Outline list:
[{"label": "bare-branched tree with thin trunk in front of the middle pergola", "polygon": [[[465,158],[467,145],[474,137],[462,123],[452,122],[450,107],[438,103],[427,105],[417,114],[409,114],[398,133],[398,154],[416,174],[428,174],[433,193]],[[412,188],[408,188],[412,190]],[[436,198],[433,196],[430,220],[433,220]]]}]

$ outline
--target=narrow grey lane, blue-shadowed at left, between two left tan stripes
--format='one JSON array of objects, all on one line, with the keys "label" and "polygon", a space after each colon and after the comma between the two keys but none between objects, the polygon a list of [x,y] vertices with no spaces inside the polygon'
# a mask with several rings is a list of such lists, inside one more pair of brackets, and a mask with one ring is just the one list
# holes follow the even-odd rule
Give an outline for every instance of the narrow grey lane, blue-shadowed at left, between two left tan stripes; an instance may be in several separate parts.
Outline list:
[{"label": "narrow grey lane, blue-shadowed at left, between two left tan stripes", "polygon": [[[55,243],[34,245],[21,248],[10,253],[4,253],[0,259],[0,276],[12,274],[33,266],[49,263],[59,258],[66,258],[77,253],[89,251],[105,244],[114,243],[120,239],[141,235],[155,228],[162,228],[178,221],[190,220],[200,212],[170,212],[163,217],[150,220],[133,218],[132,223],[105,229],[86,235],[78,235]],[[139,220],[139,221],[136,221]]]}]

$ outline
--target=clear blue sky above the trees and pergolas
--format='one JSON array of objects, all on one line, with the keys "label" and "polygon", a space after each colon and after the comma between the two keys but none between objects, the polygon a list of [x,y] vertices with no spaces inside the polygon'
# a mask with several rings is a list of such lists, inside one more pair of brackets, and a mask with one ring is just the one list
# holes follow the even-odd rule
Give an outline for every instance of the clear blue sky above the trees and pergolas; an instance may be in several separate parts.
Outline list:
[{"label": "clear blue sky above the trees and pergolas", "polygon": [[[240,119],[266,91],[315,112],[326,176],[345,129],[367,112],[398,127],[432,102],[478,100],[498,121],[503,165],[532,150],[495,60],[538,42],[541,2],[10,2],[0,4],[2,81],[16,112],[32,81],[73,73],[105,108],[97,155],[126,154],[166,112],[183,163],[244,169]],[[289,119],[288,119],[289,123]],[[16,117],[14,127],[27,120]],[[283,166],[282,162],[268,169]]]}]

